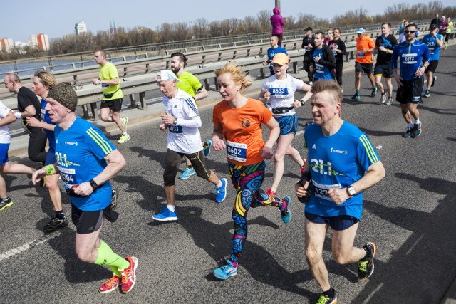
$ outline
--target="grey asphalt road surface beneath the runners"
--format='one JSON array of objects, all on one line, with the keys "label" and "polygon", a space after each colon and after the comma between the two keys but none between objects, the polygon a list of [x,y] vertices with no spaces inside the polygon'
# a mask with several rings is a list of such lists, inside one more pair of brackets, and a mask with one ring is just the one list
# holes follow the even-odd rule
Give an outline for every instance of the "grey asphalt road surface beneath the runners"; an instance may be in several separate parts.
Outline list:
[{"label": "grey asphalt road surface beneath the runners", "polygon": [[[375,241],[375,273],[358,282],[356,265],[340,266],[324,259],[339,303],[440,303],[456,278],[455,135],[456,49],[442,52],[437,83],[420,105],[423,135],[405,140],[405,122],[398,103],[385,106],[370,98],[363,76],[361,101],[352,101],[353,71],[344,75],[343,119],[366,132],[385,165],[386,177],[366,191],[363,221],[355,246]],[[300,96],[298,96],[300,97]],[[211,135],[211,107],[200,109],[203,139]],[[310,105],[298,110],[301,130]],[[208,182],[192,177],[177,181],[179,221],[150,223],[165,203],[162,172],[166,133],[151,120],[129,128],[133,139],[119,150],[128,165],[113,180],[120,191],[115,224],[101,234],[116,253],[138,257],[138,281],[128,295],[97,292],[111,273],[78,261],[73,224],[54,234],[42,228],[53,215],[46,189],[31,186],[27,177],[7,175],[14,205],[0,211],[0,303],[315,303],[320,290],[304,258],[304,211],[297,199],[289,224],[274,208],[249,211],[249,236],[238,275],[227,281],[212,276],[216,261],[230,252],[234,189],[214,202]],[[110,137],[116,142],[118,136]],[[116,144],[117,145],[117,144]],[[301,135],[294,146],[306,156]],[[24,159],[15,159],[28,164]],[[212,152],[208,167],[227,177],[225,155]],[[268,162],[264,189],[272,179]],[[182,165],[182,169],[183,169]],[[299,168],[286,159],[278,194],[294,193]],[[64,210],[70,213],[64,196]],[[328,235],[329,236],[329,235]]]}]

